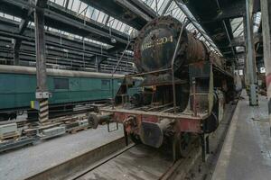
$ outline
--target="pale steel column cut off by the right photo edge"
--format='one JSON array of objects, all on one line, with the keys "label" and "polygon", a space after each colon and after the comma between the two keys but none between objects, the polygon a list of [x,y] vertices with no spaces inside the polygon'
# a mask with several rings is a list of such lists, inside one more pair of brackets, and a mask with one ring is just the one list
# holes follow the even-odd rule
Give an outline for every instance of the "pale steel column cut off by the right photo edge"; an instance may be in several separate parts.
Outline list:
[{"label": "pale steel column cut off by the right photo edge", "polygon": [[261,0],[264,61],[266,67],[266,89],[268,96],[268,113],[271,135],[271,2]]}]

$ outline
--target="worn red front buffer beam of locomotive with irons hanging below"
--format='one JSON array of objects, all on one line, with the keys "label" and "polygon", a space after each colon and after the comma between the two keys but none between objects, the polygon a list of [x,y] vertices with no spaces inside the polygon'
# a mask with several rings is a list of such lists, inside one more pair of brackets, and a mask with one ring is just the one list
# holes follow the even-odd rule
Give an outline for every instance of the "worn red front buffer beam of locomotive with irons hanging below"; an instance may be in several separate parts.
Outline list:
[{"label": "worn red front buffer beam of locomotive with irons hanging below", "polygon": [[[181,141],[185,134],[199,135],[203,161],[205,153],[209,151],[208,134],[204,132],[204,122],[208,121],[210,117],[208,113],[197,113],[195,116],[193,112],[188,111],[179,113],[145,112],[116,107],[115,109],[99,109],[96,116],[100,118],[93,118],[94,115],[92,114],[89,121],[102,120],[107,117],[108,123],[113,121],[123,123],[126,140],[129,135],[135,143],[142,142],[145,145],[160,148],[168,137],[173,137],[170,142],[173,147],[173,160],[182,156],[178,153],[182,154],[180,147],[182,147]],[[97,122],[99,123],[99,121]]]}]

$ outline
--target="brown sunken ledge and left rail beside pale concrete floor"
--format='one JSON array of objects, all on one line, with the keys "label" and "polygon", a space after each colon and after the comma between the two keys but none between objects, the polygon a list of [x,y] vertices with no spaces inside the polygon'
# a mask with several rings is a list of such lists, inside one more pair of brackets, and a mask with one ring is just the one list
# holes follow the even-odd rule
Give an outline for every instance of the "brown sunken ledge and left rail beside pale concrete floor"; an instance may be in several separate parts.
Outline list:
[{"label": "brown sunken ledge and left rail beside pale concrete floor", "polygon": [[[25,178],[25,180],[78,179],[80,176],[87,174],[94,168],[105,164],[108,160],[119,156],[134,146],[135,144],[130,144],[126,147],[125,137],[121,137],[87,151],[78,157],[68,159],[57,166],[52,166],[36,175],[31,175]],[[112,155],[112,153],[114,154]]]}]

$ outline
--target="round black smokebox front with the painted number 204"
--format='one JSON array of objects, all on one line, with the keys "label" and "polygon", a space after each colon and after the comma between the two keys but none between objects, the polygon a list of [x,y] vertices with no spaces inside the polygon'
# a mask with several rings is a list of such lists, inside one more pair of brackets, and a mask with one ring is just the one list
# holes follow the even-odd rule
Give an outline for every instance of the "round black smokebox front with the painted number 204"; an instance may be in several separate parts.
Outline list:
[{"label": "round black smokebox front with the painted number 204", "polygon": [[148,72],[171,67],[177,44],[179,23],[169,23],[166,18],[145,26],[135,42],[135,64],[140,71]]}]

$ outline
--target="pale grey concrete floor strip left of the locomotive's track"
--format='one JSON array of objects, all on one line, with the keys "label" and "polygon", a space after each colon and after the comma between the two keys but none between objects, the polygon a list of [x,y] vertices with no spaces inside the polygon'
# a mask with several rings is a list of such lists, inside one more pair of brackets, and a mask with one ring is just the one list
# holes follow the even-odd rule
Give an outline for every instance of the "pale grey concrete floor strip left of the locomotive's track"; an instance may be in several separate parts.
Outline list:
[{"label": "pale grey concrete floor strip left of the locomotive's track", "polygon": [[[114,128],[113,124],[112,128]],[[111,127],[111,126],[110,126]],[[77,157],[91,149],[123,137],[123,128],[107,132],[107,125],[97,130],[83,130],[48,139],[40,144],[0,154],[0,180],[21,180]]]}]

